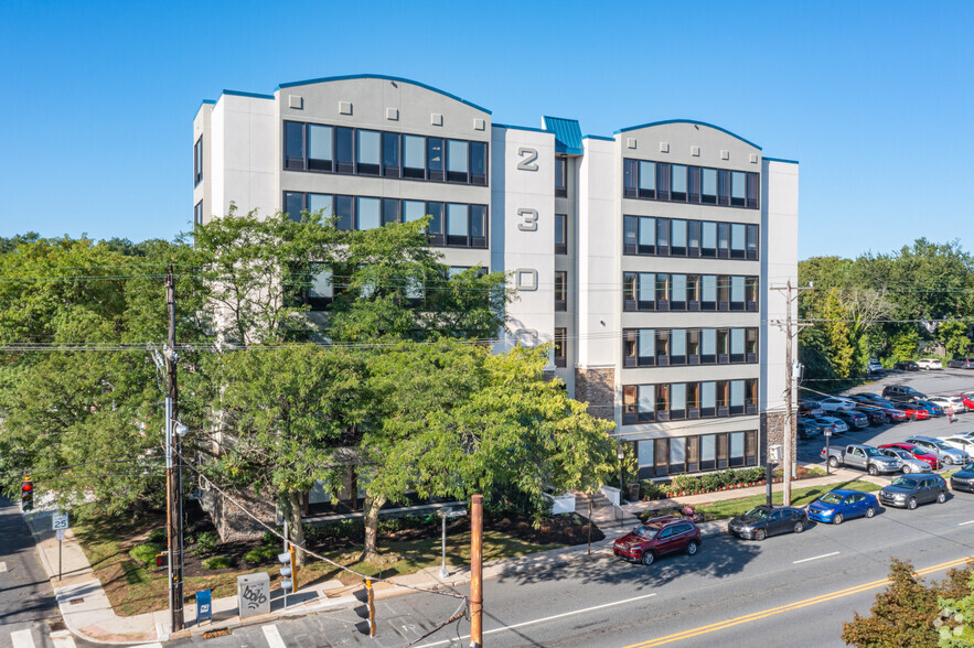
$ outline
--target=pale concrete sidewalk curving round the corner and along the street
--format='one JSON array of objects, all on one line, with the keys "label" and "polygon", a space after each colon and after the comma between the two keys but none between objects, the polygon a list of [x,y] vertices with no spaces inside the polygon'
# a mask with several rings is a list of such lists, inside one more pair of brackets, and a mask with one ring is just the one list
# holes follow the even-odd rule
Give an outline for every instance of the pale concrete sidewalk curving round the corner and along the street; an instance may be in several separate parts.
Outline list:
[{"label": "pale concrete sidewalk curving round the corner and along the street", "polygon": [[[814,477],[795,482],[796,488],[807,486],[839,487],[846,482],[866,479],[876,484],[888,484],[882,477],[870,477],[858,471],[838,469],[827,477]],[[775,485],[780,492],[780,484]],[[518,558],[495,560],[484,563],[484,579],[501,576],[543,573],[553,566],[572,562],[593,562],[612,555],[612,543],[635,526],[638,514],[660,509],[665,506],[691,505],[699,506],[764,494],[764,486],[721,490],[705,495],[689,495],[672,499],[638,501],[622,507],[598,508],[593,511],[592,521],[602,530],[606,538],[592,542],[589,553],[588,544],[577,544],[564,549],[554,549],[532,553]],[[619,510],[621,509],[621,510]],[[587,510],[579,510],[587,515]],[[111,608],[101,583],[95,577],[92,565],[71,530],[65,533],[61,577],[57,576],[57,540],[51,528],[51,512],[39,512],[26,516],[28,526],[34,536],[41,563],[51,576],[61,614],[67,628],[83,639],[99,644],[145,644],[165,641],[171,638],[201,635],[206,631],[233,628],[240,625],[260,624],[272,618],[290,615],[303,615],[327,609],[340,609],[363,605],[364,588],[361,585],[344,585],[340,581],[325,581],[310,587],[301,588],[288,596],[288,606],[283,605],[280,590],[271,592],[271,613],[242,619],[237,608],[237,597],[229,596],[213,601],[213,622],[196,624],[195,605],[186,604],[184,612],[185,629],[172,633],[167,603],[160,602],[159,612],[136,616],[118,616]],[[723,533],[726,520],[703,522],[699,525],[705,537]],[[440,568],[427,568],[415,574],[394,576],[388,582],[375,582],[376,598],[408,594],[415,588],[459,591],[470,582],[470,570],[467,566],[451,568],[449,575],[440,576]]]}]

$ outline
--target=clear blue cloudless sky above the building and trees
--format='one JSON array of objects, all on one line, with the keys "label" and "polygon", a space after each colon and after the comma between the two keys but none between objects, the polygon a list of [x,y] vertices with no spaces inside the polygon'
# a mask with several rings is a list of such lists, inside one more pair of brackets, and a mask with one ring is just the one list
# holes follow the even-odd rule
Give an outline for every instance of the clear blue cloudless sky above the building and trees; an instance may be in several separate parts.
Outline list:
[{"label": "clear blue cloudless sky above the building and trees", "polygon": [[0,0],[0,236],[172,238],[226,89],[415,79],[586,134],[720,126],[801,163],[801,258],[974,250],[974,2]]}]

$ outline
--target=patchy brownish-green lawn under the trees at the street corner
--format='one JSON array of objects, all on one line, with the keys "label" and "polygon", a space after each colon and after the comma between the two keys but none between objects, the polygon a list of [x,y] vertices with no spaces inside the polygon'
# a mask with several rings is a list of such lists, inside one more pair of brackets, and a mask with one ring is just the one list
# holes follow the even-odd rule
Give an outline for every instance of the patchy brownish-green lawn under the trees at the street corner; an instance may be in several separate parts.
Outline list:
[{"label": "patchy brownish-green lawn under the trees at the street corner", "polygon": [[[147,570],[136,563],[128,554],[131,547],[145,541],[147,528],[140,528],[137,523],[111,522],[104,519],[96,523],[76,522],[73,528],[95,570],[95,576],[101,581],[116,614],[130,616],[168,607],[165,570]],[[565,546],[534,543],[512,538],[499,531],[485,530],[483,560],[512,558],[560,547]],[[358,562],[358,550],[322,551],[320,553],[367,576],[378,577],[411,574],[424,568],[441,563],[439,537],[381,542],[379,552],[378,561],[367,563]],[[469,531],[447,536],[447,564],[470,564]],[[248,569],[246,563],[242,562],[237,568],[215,570],[213,575],[186,577],[183,582],[186,603],[192,603],[193,594],[199,590],[213,590],[214,598],[235,596],[237,576],[260,571],[270,574],[271,588],[277,588],[277,582],[280,580],[278,566],[266,564]],[[340,580],[346,585],[362,582],[362,579],[355,574],[325,562],[312,560],[299,571],[298,584],[300,587],[306,587],[308,584],[332,579]]]}]

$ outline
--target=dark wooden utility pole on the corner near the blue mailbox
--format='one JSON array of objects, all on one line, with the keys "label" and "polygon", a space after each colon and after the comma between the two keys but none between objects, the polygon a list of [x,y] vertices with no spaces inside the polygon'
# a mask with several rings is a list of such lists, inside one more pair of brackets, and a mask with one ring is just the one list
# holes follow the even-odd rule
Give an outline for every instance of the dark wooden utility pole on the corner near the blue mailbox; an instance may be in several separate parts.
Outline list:
[{"label": "dark wooden utility pole on the corner near the blue mailbox", "polygon": [[169,274],[165,277],[165,305],[169,310],[169,338],[163,353],[167,382],[165,529],[169,550],[169,609],[174,633],[183,629],[183,460],[180,435],[174,433],[179,403],[179,386],[175,380],[179,355],[175,353],[175,277],[172,273],[172,266],[169,267]]}]

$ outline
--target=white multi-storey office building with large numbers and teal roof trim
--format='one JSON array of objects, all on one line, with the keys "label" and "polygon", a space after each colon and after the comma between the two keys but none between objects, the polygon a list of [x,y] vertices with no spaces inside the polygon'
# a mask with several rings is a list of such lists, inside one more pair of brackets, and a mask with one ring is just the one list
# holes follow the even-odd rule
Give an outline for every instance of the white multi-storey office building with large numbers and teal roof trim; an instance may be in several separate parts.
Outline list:
[{"label": "white multi-storey office building with large numbers and teal roof trim", "polygon": [[616,422],[642,478],[759,465],[781,442],[796,162],[686,120],[504,126],[385,76],[224,91],[193,140],[196,223],[231,204],[363,229],[432,215],[445,264],[510,274],[496,349],[554,343],[550,371]]}]

